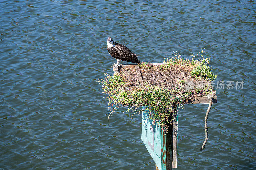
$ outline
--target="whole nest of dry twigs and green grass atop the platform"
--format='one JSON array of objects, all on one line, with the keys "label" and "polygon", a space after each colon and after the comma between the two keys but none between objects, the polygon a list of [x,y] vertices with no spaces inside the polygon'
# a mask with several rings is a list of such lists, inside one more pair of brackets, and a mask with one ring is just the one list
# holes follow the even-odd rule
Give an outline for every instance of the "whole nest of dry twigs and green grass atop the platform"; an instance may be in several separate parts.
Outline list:
[{"label": "whole nest of dry twigs and green grass atop the platform", "polygon": [[211,81],[217,76],[207,61],[175,58],[158,64],[122,65],[118,70],[114,67],[115,75],[106,74],[101,81],[108,93],[109,115],[120,105],[135,112],[140,106],[148,106],[154,111],[151,119],[166,127],[173,121],[177,105],[212,94]]}]

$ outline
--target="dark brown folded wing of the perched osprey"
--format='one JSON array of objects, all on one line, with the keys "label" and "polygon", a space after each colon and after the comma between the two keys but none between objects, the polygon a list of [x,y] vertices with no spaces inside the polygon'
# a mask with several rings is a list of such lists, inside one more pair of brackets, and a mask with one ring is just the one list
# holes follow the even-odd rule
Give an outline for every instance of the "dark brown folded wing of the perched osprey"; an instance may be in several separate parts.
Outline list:
[{"label": "dark brown folded wing of the perched osprey", "polygon": [[116,42],[113,42],[113,44],[115,45],[114,47],[108,48],[107,46],[108,53],[112,57],[122,61],[140,63],[140,61],[138,60],[138,56],[134,54],[129,48]]}]

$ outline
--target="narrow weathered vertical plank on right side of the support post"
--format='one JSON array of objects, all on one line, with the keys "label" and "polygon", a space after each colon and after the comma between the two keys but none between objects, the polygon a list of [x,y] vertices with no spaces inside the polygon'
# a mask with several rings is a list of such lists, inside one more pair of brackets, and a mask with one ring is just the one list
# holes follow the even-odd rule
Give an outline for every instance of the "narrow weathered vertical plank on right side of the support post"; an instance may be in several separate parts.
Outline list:
[{"label": "narrow weathered vertical plank on right side of the support post", "polygon": [[173,114],[173,147],[172,147],[172,168],[177,168],[177,150],[178,150],[178,112]]}]

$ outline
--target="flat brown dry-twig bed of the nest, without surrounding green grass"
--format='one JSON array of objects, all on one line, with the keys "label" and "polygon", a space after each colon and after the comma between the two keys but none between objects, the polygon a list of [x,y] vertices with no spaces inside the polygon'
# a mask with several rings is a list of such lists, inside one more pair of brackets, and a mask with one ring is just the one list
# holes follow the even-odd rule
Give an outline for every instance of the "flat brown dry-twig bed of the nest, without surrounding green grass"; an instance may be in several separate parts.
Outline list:
[{"label": "flat brown dry-twig bed of the nest, without surrounding green grass", "polygon": [[[143,83],[139,80],[135,67],[140,67]],[[172,91],[176,96],[189,91],[184,103],[191,103],[196,97],[207,96],[212,93],[211,81],[206,78],[198,78],[191,75],[191,71],[196,65],[176,64],[170,67],[163,63],[140,65],[123,65],[118,68],[121,75],[124,75],[126,84],[124,91],[133,92],[138,89],[145,89],[147,86],[158,87],[167,91]]]}]

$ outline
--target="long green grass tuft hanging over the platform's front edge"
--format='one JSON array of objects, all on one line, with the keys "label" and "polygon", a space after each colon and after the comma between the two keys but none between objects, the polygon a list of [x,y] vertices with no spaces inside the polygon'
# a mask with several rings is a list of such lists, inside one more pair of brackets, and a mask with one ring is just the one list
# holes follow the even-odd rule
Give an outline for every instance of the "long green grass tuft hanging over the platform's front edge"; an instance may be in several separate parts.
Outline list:
[{"label": "long green grass tuft hanging over the platform's front edge", "polygon": [[108,96],[112,105],[117,104],[129,106],[127,111],[137,111],[140,106],[148,106],[154,110],[151,115],[153,121],[158,122],[162,127],[165,123],[172,122],[171,115],[175,112],[173,107],[180,105],[185,96],[175,96],[175,91],[168,91],[154,86],[147,86],[145,89],[138,89],[133,92],[119,91]]}]

